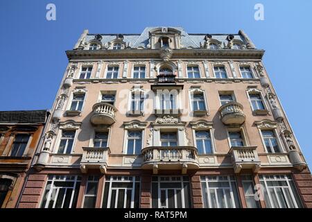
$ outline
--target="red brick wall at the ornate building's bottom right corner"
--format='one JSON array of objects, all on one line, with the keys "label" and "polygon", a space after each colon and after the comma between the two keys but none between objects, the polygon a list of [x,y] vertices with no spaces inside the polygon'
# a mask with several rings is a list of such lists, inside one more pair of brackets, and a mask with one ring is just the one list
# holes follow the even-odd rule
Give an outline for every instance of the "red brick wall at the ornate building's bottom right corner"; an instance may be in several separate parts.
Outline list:
[{"label": "red brick wall at the ornate building's bottom right corner", "polygon": [[302,196],[302,202],[305,207],[312,208],[312,176],[309,169],[305,169],[300,173],[293,173],[295,182],[300,195]]}]

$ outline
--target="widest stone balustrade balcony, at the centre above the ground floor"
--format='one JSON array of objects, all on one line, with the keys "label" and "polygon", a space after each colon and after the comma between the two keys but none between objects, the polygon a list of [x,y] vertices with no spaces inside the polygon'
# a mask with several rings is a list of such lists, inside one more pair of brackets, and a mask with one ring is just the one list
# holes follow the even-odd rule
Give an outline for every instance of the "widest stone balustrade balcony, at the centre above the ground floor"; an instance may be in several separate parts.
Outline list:
[{"label": "widest stone balustrade balcony, at the centre above the ground floor", "polygon": [[142,169],[181,170],[198,169],[197,149],[193,146],[150,146],[141,151],[143,155]]}]

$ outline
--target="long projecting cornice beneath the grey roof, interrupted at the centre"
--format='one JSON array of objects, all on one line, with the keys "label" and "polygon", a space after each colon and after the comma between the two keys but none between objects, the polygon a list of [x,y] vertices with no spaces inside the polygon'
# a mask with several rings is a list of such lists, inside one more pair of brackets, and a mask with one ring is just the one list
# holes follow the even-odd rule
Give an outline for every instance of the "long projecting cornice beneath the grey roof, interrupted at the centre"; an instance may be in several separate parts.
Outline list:
[{"label": "long projecting cornice beneath the grey roof, interrupted at the centre", "polygon": [[[264,54],[261,49],[173,49],[171,60],[181,58],[254,58],[261,59]],[[69,50],[67,58],[105,59],[105,58],[159,58],[159,49],[123,49],[123,50]]]}]

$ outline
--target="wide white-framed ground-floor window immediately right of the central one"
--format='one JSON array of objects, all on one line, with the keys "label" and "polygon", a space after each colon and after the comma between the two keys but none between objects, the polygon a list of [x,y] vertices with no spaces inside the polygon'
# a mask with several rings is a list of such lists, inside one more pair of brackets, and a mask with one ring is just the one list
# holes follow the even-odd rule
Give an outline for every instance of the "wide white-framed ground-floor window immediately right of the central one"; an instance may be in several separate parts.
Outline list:
[{"label": "wide white-framed ground-floor window immediately right of the central one", "polygon": [[239,208],[234,176],[201,176],[202,198],[206,208]]}]

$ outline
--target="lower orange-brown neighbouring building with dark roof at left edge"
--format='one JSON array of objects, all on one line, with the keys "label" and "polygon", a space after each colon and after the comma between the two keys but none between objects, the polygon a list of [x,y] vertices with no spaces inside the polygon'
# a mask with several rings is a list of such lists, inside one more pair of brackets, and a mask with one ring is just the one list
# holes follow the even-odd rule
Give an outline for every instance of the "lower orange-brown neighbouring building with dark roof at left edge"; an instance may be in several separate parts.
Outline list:
[{"label": "lower orange-brown neighbouring building with dark roof at left edge", "polygon": [[46,110],[0,112],[0,208],[14,208],[40,137]]}]

